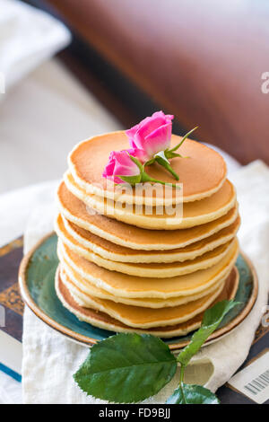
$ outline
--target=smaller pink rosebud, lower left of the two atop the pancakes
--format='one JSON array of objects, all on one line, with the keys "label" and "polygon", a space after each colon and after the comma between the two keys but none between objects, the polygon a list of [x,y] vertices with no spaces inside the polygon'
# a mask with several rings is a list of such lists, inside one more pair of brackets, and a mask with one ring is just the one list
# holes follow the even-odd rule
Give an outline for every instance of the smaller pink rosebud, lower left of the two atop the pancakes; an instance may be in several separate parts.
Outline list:
[{"label": "smaller pink rosebud, lower left of the two atop the pancakes", "polygon": [[133,150],[112,151],[102,176],[114,181],[114,183],[125,183],[125,180],[121,180],[118,176],[129,177],[140,175],[138,166],[129,157],[131,152]]}]

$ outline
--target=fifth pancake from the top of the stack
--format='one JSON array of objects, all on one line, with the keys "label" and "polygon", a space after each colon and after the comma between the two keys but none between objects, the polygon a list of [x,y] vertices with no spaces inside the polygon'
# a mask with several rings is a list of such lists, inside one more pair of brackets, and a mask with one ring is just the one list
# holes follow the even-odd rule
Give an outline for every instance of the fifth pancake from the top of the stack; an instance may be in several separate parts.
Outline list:
[{"label": "fifth pancake from the top of the stack", "polygon": [[80,257],[90,260],[94,264],[107,268],[110,271],[117,271],[120,273],[128,274],[135,277],[176,277],[184,274],[189,274],[198,269],[210,268],[221,259],[224,258],[226,253],[229,251],[230,242],[208,251],[204,255],[199,256],[195,259],[189,259],[183,262],[170,262],[170,263],[132,263],[132,262],[117,262],[110,259],[104,259],[93,253],[92,251],[82,247],[78,242],[74,241],[70,236],[64,237],[60,231],[57,231],[59,242],[64,244],[71,250],[74,251]]}]

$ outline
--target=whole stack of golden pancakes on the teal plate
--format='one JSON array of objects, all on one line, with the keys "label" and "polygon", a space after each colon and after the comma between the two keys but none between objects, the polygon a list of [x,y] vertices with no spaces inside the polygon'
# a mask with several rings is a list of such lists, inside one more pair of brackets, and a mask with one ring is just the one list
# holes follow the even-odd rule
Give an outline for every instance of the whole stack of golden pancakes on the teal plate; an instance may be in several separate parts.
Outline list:
[{"label": "whole stack of golden pancakes on the teal plate", "polygon": [[[173,135],[171,145],[179,141]],[[57,192],[56,292],[70,312],[93,326],[184,335],[199,327],[213,303],[236,294],[236,192],[221,155],[187,139],[180,147],[187,158],[171,160],[182,196],[175,188],[168,197],[164,189],[116,195],[117,186],[102,171],[112,150],[127,147],[125,133],[115,132],[83,141],[69,155]],[[147,172],[175,182],[157,163]],[[171,215],[169,207],[182,200],[183,215]],[[146,212],[149,204],[152,214]]]}]

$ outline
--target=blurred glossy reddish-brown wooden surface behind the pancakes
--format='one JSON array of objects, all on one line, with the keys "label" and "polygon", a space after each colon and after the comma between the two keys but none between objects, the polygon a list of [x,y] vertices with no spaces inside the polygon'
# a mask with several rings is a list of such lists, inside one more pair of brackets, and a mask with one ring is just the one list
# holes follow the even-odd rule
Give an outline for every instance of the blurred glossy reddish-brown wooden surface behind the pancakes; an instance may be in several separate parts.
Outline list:
[{"label": "blurred glossy reddish-brown wooden surface behind the pancakes", "polygon": [[[269,163],[269,93],[261,91],[261,75],[269,71],[269,4],[256,0],[30,3],[52,7],[89,46],[83,83],[89,85],[91,79],[97,96],[100,93],[101,101],[107,101],[125,126],[136,123],[137,116],[155,104],[175,114],[185,129],[199,125],[196,138],[220,146],[240,163],[256,158]],[[97,66],[95,82],[92,51],[108,63],[100,79]],[[83,54],[87,56],[86,50]],[[77,72],[74,55],[70,63]],[[113,78],[110,87],[106,84],[109,66],[123,75],[122,85],[118,77],[116,84]],[[136,92],[134,87],[127,92],[125,78],[146,93],[152,106],[145,107],[143,97],[140,107],[134,104]]]}]

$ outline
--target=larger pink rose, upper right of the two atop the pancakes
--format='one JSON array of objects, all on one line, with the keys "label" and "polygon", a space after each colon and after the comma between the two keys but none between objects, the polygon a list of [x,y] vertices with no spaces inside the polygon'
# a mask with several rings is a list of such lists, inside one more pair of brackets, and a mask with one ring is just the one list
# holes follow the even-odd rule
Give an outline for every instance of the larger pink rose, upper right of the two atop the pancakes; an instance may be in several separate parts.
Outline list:
[{"label": "larger pink rose, upper right of the two atop the pancakes", "polygon": [[138,125],[126,130],[132,148],[143,151],[143,163],[155,154],[169,148],[174,116],[156,111],[152,117],[143,119]]}]

